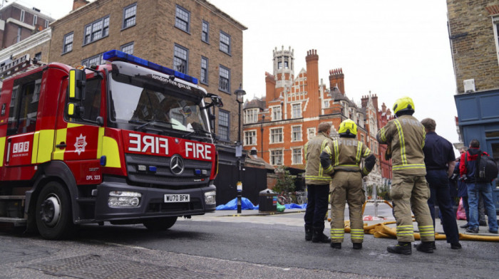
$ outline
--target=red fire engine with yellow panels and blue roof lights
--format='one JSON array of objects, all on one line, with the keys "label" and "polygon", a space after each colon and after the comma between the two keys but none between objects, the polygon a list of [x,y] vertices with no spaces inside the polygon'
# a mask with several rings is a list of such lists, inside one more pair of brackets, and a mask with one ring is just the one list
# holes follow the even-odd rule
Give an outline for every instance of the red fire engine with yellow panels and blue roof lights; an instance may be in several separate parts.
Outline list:
[{"label": "red fire engine with yellow panels and blue roof lights", "polygon": [[103,58],[111,63],[50,63],[3,81],[0,222],[58,239],[83,223],[165,230],[215,211],[210,107],[220,97],[147,60]]}]

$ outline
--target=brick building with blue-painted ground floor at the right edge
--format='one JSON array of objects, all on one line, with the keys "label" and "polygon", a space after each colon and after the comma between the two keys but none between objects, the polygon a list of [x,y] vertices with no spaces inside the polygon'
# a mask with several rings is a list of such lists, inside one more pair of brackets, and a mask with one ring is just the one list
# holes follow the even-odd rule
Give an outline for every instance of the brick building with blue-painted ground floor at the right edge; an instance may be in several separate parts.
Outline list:
[{"label": "brick building with blue-painted ground floor at the right edge", "polygon": [[447,9],[461,138],[499,162],[499,0],[448,0]]}]

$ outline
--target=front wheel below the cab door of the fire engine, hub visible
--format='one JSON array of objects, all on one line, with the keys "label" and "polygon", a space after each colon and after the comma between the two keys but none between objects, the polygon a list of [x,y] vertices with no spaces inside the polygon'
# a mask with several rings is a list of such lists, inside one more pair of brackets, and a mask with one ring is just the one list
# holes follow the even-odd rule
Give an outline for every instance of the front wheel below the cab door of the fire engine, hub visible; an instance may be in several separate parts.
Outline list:
[{"label": "front wheel below the cab door of the fire engine, hub visible", "polygon": [[58,182],[49,182],[41,189],[36,200],[36,226],[46,239],[61,239],[71,232],[71,199]]}]

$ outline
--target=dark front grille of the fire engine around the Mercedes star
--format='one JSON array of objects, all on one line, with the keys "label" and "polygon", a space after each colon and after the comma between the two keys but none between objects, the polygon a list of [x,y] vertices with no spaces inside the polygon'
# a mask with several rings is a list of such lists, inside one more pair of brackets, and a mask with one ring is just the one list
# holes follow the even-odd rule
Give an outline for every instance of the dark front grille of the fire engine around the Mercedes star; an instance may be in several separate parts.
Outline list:
[{"label": "dark front grille of the fire engine around the Mercedes star", "polygon": [[[170,157],[125,154],[125,159],[128,179],[137,184],[202,186],[210,180],[211,162],[183,159],[184,171],[180,175],[175,175],[170,170]],[[139,171],[138,165],[145,165],[147,170]],[[150,172],[149,167],[156,167],[156,172]],[[206,169],[207,174],[196,175],[195,169]]]}]

